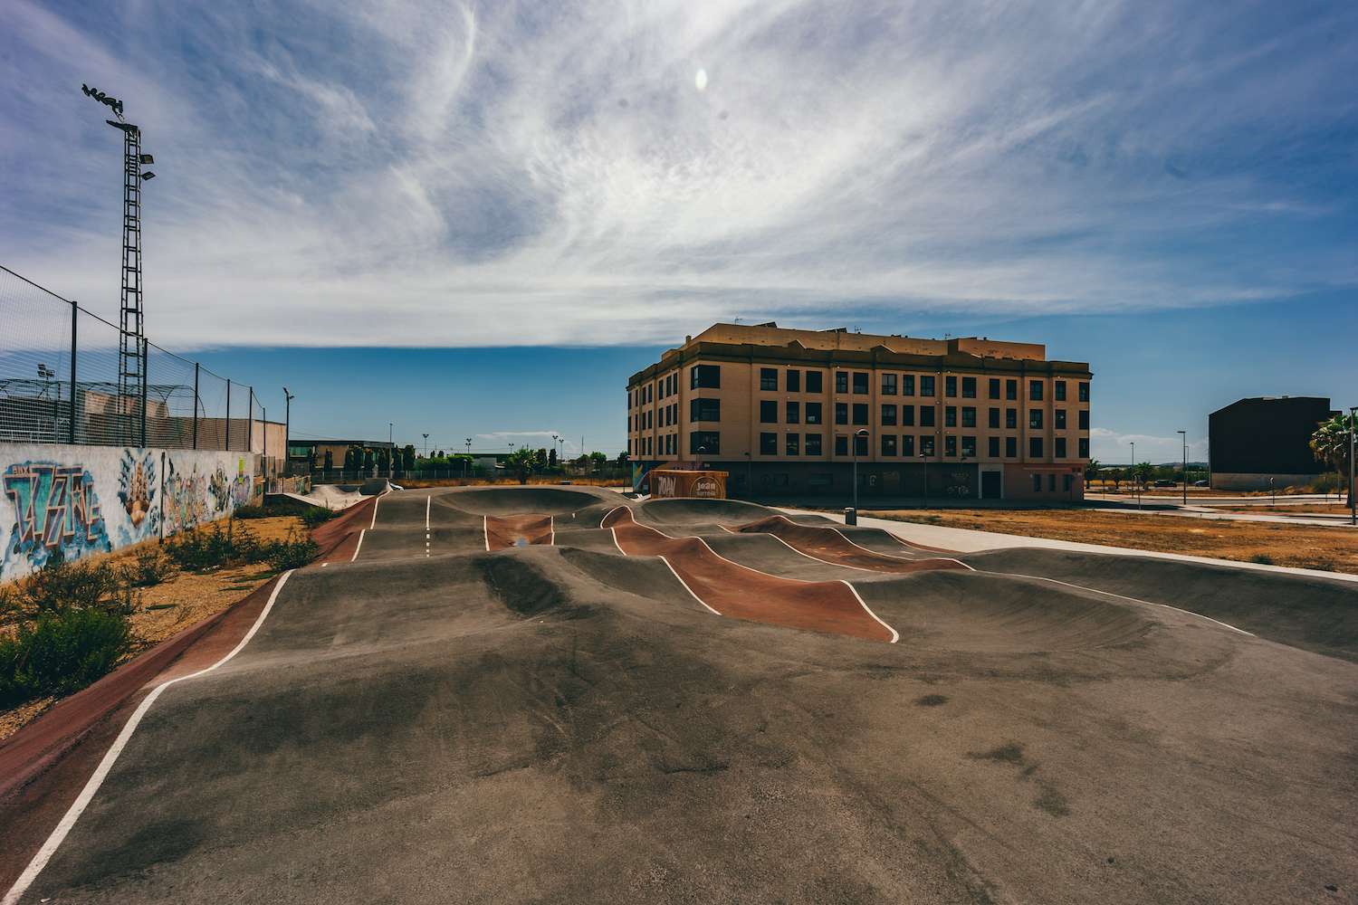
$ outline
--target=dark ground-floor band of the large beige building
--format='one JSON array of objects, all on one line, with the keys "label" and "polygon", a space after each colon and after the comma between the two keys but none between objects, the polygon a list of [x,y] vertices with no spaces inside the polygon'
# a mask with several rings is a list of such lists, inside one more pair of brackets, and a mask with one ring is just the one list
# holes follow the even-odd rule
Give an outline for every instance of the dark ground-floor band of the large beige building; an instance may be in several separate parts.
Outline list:
[{"label": "dark ground-floor band of the large beige building", "polygon": [[[646,491],[644,474],[663,461],[633,463],[638,490]],[[849,497],[854,491],[854,465],[843,461],[703,461],[703,467],[727,471],[727,495],[763,497]],[[928,484],[926,484],[928,480]],[[1078,502],[1085,498],[1084,469],[1062,464],[1012,463],[860,463],[858,497],[952,499],[1031,499]]]}]

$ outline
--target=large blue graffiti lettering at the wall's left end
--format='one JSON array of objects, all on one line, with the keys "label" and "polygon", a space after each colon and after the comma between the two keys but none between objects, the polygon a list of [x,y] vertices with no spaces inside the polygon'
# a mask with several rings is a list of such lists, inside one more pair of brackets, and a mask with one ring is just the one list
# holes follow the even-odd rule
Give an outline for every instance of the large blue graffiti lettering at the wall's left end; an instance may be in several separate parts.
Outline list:
[{"label": "large blue graffiti lettering at the wall's left end", "polygon": [[111,550],[94,476],[84,465],[27,461],[5,468],[0,482],[15,518],[0,574],[20,563],[41,569],[56,550],[67,558]]}]

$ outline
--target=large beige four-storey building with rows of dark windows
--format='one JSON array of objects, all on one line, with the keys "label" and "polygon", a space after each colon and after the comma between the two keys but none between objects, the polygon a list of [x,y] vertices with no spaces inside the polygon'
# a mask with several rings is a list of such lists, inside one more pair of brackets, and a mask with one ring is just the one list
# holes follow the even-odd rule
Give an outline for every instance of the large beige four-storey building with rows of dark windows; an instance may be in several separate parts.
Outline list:
[{"label": "large beige four-storey building with rows of dark windows", "polygon": [[990,339],[716,324],[627,381],[637,474],[729,471],[732,497],[1077,501],[1085,362]]}]

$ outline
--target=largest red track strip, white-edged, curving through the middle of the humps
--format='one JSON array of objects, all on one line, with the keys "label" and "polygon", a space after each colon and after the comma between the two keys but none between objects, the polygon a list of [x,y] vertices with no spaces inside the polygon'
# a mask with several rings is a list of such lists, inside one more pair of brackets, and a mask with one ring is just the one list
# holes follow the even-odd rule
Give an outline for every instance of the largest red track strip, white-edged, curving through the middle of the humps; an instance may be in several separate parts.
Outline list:
[{"label": "largest red track strip, white-edged, curving through the middle of the humps", "polygon": [[793,581],[737,566],[699,537],[676,540],[638,525],[622,506],[604,516],[600,526],[612,529],[618,548],[629,556],[661,556],[694,597],[722,616],[869,640],[899,638],[847,582]]}]

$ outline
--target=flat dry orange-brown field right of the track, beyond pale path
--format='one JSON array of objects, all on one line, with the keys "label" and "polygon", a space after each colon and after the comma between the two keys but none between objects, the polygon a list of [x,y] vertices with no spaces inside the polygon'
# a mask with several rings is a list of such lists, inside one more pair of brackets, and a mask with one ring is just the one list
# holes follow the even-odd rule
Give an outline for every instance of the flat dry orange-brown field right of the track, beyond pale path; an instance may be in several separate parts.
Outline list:
[{"label": "flat dry orange-brown field right of the track, beyond pale path", "polygon": [[864,516],[1020,537],[1071,540],[1164,554],[1267,562],[1274,566],[1358,574],[1358,532],[1325,525],[1192,520],[1077,509],[949,509],[923,513],[864,512]]}]

